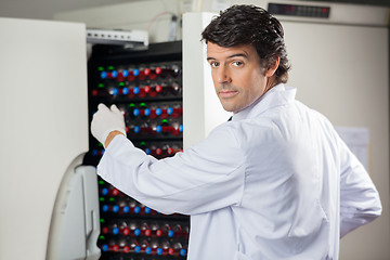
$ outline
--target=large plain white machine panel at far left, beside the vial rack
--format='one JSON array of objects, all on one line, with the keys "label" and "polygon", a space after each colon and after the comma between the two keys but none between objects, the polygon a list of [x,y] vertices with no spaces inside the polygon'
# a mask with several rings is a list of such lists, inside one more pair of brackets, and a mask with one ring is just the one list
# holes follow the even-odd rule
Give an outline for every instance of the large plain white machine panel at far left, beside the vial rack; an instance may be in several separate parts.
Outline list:
[{"label": "large plain white machine panel at far left, beside the vial rack", "polygon": [[0,18],[0,259],[42,260],[60,183],[88,151],[86,28]]}]

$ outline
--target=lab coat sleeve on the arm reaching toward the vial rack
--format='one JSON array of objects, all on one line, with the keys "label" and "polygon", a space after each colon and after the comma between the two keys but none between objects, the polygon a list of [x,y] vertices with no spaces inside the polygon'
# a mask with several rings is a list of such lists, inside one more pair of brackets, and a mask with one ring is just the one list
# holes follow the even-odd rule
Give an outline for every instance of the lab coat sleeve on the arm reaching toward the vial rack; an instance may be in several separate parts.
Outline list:
[{"label": "lab coat sleeve on the arm reaching toward the vial rack", "polygon": [[195,214],[238,205],[245,162],[226,126],[217,128],[198,145],[160,160],[118,135],[105,151],[98,173],[162,213]]}]

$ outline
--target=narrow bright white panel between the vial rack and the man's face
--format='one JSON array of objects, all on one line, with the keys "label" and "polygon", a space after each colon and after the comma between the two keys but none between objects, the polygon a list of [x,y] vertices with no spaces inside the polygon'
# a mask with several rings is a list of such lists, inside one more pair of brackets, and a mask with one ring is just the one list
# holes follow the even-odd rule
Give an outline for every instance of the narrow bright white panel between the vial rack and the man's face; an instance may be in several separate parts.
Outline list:
[{"label": "narrow bright white panel between the vial rack and the man's face", "polygon": [[183,145],[184,150],[205,139],[218,125],[232,116],[223,109],[216,94],[206,46],[200,32],[213,13],[183,15]]}]

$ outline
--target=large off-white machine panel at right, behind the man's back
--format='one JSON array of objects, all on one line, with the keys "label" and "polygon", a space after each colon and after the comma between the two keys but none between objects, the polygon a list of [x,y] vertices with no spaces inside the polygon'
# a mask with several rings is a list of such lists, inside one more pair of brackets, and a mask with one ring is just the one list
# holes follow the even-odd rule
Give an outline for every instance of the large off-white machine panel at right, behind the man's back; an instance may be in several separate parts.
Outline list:
[{"label": "large off-white machine panel at right, behind the man's back", "polygon": [[[369,131],[367,170],[381,195],[384,213],[341,240],[340,259],[385,259],[390,256],[386,207],[389,202],[388,29],[295,22],[283,22],[283,26],[292,64],[288,84],[297,88],[297,99],[323,113],[336,127]],[[379,234],[382,238],[367,239]]]}]

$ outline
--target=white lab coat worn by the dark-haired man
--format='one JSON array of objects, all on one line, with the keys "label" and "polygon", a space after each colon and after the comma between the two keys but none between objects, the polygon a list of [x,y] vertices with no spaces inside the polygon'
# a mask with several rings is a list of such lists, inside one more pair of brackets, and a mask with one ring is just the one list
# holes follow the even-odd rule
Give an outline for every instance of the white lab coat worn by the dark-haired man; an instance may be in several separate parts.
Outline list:
[{"label": "white lab coat worn by the dark-haired man", "polygon": [[274,87],[171,158],[116,136],[98,172],[148,207],[190,214],[188,260],[338,259],[340,236],[381,213],[379,195],[295,93]]}]

